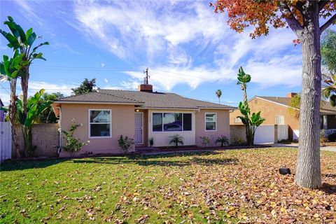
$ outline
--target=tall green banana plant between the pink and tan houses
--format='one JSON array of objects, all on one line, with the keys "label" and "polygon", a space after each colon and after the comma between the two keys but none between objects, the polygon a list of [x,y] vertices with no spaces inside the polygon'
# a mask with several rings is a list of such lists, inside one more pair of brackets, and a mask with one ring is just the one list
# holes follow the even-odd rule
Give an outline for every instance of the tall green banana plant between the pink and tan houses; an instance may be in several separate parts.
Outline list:
[{"label": "tall green banana plant between the pink and tan houses", "polygon": [[257,130],[257,127],[259,127],[264,122],[265,118],[261,117],[260,111],[257,113],[251,113],[250,107],[248,106],[246,92],[247,83],[251,81],[251,76],[245,73],[241,66],[238,69],[237,79],[237,85],[241,85],[241,90],[244,91],[244,101],[239,102],[238,106],[239,111],[243,116],[238,116],[237,118],[240,118],[241,123],[245,125],[246,141],[248,146],[253,146],[255,130]]}]

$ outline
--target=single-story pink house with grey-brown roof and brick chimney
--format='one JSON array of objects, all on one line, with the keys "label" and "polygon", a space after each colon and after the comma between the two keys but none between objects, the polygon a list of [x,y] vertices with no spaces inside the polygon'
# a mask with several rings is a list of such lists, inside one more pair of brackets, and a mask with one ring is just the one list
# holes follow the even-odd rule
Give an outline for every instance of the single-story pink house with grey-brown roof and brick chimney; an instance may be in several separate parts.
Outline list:
[{"label": "single-story pink house with grey-brown roof and brick chimney", "polygon": [[[52,104],[62,130],[71,120],[82,123],[75,134],[90,140],[83,151],[120,153],[120,134],[134,138],[137,146],[169,146],[170,137],[180,134],[186,146],[201,146],[207,136],[215,146],[217,137],[230,139],[229,111],[232,106],[181,97],[174,93],[153,92],[152,85],[141,84],[139,91],[97,90]],[[64,144],[64,142],[63,142]]]}]

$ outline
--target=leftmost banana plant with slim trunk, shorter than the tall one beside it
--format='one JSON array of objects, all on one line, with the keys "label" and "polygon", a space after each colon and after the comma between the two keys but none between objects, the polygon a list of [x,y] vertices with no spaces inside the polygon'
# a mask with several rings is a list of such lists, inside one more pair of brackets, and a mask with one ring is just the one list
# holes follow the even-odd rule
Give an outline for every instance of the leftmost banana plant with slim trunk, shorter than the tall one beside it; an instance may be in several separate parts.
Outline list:
[{"label": "leftmost banana plant with slim trunk, shorter than the tall one beside it", "polygon": [[15,147],[16,156],[22,156],[22,152],[18,146],[18,142],[15,138],[15,115],[16,115],[16,101],[18,96],[16,95],[16,83],[20,76],[22,76],[22,66],[27,62],[23,62],[23,54],[20,54],[18,50],[14,50],[13,57],[3,55],[3,61],[0,62],[0,80],[8,81],[10,83],[10,105],[8,108],[1,108],[3,111],[8,111],[10,120],[10,129],[12,130],[12,140]]}]

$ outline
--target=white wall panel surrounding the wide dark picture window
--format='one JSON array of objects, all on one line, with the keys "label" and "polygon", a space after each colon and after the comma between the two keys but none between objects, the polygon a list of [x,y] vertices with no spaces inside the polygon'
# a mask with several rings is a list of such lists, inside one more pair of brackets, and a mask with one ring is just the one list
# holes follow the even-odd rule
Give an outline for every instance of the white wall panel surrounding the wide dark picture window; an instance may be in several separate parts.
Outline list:
[{"label": "white wall panel surrounding the wide dark picture window", "polygon": [[[192,130],[182,132],[153,132],[152,113],[192,113]],[[154,138],[154,147],[172,146],[169,145],[170,137],[180,134],[184,139],[185,146],[195,146],[195,111],[181,110],[148,110],[148,138]]]}]

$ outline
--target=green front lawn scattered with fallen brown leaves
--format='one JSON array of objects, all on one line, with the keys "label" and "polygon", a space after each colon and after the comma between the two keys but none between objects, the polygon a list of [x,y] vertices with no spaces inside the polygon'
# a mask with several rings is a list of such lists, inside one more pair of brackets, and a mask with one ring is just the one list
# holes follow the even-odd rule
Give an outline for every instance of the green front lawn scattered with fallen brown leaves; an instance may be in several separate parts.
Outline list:
[{"label": "green front lawn scattered with fallen brown leaves", "polygon": [[336,223],[336,153],[302,189],[295,149],[5,162],[0,223]]}]

